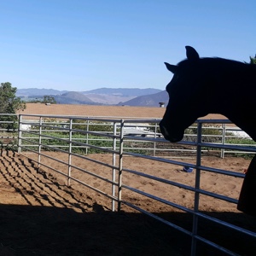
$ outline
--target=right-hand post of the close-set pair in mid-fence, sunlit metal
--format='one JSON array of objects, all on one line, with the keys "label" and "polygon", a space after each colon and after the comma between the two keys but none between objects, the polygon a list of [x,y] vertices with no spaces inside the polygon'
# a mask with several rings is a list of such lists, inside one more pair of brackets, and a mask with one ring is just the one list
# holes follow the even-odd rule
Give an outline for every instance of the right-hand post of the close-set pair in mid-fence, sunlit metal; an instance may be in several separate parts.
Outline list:
[{"label": "right-hand post of the close-set pair in mid-fence, sunlit metal", "polygon": [[118,212],[121,210],[122,200],[122,172],[123,172],[123,148],[124,148],[124,119],[120,122],[120,135],[119,135],[119,191],[118,191]]}]

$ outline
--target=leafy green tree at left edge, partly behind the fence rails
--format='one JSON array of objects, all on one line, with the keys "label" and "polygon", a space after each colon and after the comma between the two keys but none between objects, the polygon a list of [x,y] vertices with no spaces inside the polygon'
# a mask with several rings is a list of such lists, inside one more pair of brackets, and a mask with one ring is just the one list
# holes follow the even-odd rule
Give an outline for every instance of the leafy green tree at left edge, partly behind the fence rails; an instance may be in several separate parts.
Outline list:
[{"label": "leafy green tree at left edge, partly behind the fence rails", "polygon": [[[18,110],[26,108],[26,102],[21,101],[20,97],[16,97],[17,88],[12,87],[9,82],[1,83],[0,86],[0,113],[16,113]],[[15,129],[16,115],[1,115],[0,121],[11,121],[12,123],[1,123],[1,128]]]}]

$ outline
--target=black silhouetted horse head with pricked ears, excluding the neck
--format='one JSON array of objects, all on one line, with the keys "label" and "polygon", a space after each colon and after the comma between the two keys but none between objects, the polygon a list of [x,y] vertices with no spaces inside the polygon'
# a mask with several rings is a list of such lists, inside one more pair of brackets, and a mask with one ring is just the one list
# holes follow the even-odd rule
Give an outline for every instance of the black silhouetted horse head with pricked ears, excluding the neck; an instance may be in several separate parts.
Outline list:
[{"label": "black silhouetted horse head with pricked ears, excluding the neck", "polygon": [[199,116],[207,114],[204,108],[206,99],[199,101],[201,94],[207,93],[202,84],[203,79],[198,76],[200,58],[194,48],[186,46],[186,50],[188,59],[177,66],[165,62],[167,69],[174,75],[166,86],[169,103],[160,122],[160,130],[172,143],[182,140],[184,130]]}]

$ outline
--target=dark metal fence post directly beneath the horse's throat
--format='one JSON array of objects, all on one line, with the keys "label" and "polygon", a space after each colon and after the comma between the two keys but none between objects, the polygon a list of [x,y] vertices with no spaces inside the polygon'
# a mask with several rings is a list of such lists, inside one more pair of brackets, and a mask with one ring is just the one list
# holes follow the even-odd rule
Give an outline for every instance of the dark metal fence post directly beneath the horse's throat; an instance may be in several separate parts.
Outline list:
[{"label": "dark metal fence post directly beneath the horse's throat", "polygon": [[[194,212],[198,212],[199,209],[199,189],[200,189],[200,175],[201,175],[201,122],[197,123],[197,148],[196,148],[196,173],[195,173],[195,202],[194,202]],[[196,255],[196,238],[198,226],[198,216],[194,214],[193,216],[193,230],[192,230],[192,245],[191,245],[191,256]]]}]

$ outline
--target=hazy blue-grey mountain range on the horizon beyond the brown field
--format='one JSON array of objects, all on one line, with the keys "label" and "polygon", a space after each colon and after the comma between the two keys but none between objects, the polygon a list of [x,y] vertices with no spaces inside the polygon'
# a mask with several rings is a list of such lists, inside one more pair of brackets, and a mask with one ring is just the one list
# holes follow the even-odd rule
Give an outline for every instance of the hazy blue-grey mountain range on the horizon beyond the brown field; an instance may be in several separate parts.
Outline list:
[{"label": "hazy blue-grey mountain range on the horizon beyond the brown field", "polygon": [[165,90],[138,88],[100,88],[86,91],[53,89],[18,89],[16,96],[26,102],[40,101],[44,96],[53,96],[59,104],[126,105],[158,107],[159,102],[168,102]]}]

